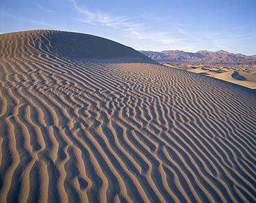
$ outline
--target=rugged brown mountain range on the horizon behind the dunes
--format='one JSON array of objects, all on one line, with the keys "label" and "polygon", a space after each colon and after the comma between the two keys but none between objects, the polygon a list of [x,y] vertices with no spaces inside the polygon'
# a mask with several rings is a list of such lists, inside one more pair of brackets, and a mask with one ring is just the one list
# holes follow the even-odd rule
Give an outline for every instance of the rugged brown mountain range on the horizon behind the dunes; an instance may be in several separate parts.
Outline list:
[{"label": "rugged brown mountain range on the horizon behind the dunes", "polygon": [[256,55],[246,56],[242,54],[233,54],[225,50],[219,50],[217,52],[199,50],[195,53],[184,52],[181,50],[164,50],[162,52],[139,50],[139,52],[158,62],[256,66]]}]

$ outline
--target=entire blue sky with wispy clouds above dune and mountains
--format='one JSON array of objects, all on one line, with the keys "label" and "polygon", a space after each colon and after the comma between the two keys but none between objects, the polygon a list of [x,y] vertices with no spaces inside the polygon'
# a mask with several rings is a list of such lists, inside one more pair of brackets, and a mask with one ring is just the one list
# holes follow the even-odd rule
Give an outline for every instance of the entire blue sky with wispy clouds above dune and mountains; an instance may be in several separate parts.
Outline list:
[{"label": "entire blue sky with wispy clouds above dune and mountains", "polygon": [[136,50],[256,55],[256,0],[1,0],[0,32],[64,30]]}]

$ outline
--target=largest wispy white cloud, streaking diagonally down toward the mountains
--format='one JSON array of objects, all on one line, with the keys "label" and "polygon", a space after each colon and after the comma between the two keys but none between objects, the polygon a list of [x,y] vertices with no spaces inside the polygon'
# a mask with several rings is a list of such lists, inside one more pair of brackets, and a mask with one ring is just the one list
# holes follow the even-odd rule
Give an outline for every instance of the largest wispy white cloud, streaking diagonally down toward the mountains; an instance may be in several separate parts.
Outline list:
[{"label": "largest wispy white cloud, streaking diagonally down toward the mountains", "polygon": [[[138,15],[139,17],[136,18],[118,16],[100,10],[91,11],[78,5],[75,0],[70,1],[73,4],[73,8],[81,15],[79,19],[76,19],[77,21],[90,23],[95,26],[114,28],[127,37],[127,39],[131,39],[131,41],[144,40],[145,42],[147,40],[149,43],[158,44],[158,46],[161,47],[188,48],[188,46],[192,47],[191,41],[197,40],[192,39],[193,36],[185,30],[182,24],[170,23],[168,17],[157,17],[154,14],[143,13],[140,13]],[[157,30],[156,27],[159,29]],[[201,39],[198,38],[198,41],[200,40]]]}]

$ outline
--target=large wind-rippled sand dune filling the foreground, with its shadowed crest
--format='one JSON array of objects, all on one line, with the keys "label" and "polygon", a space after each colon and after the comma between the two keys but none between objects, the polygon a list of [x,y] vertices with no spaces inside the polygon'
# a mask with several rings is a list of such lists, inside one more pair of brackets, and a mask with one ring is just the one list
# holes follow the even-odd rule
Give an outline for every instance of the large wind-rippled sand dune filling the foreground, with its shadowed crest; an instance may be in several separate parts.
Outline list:
[{"label": "large wind-rippled sand dune filling the foreground, with its shadowed crest", "polygon": [[0,202],[255,202],[255,90],[71,32],[0,35]]}]

